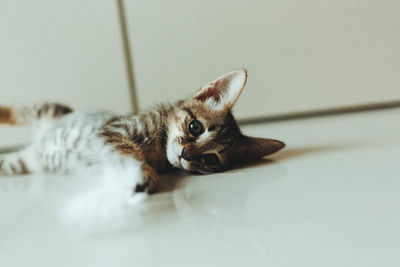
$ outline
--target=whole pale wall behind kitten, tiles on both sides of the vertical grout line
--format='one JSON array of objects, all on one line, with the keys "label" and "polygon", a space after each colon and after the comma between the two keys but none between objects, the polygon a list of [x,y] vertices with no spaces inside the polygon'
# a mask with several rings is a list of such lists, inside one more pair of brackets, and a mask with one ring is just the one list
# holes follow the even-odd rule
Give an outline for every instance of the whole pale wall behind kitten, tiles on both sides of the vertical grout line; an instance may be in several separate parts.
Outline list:
[{"label": "whole pale wall behind kitten, tiles on both sides of the vertical grout line", "polygon": [[[232,69],[239,118],[400,100],[400,4],[122,1],[141,109]],[[0,1],[0,103],[132,110],[117,1]]]}]

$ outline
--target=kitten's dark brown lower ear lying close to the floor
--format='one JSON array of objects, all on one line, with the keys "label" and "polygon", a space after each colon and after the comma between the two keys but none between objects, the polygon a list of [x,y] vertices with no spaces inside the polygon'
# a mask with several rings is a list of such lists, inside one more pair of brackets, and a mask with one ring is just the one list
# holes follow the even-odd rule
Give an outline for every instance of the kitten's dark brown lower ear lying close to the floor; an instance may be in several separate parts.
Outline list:
[{"label": "kitten's dark brown lower ear lying close to the floor", "polygon": [[237,161],[252,161],[278,152],[285,147],[285,143],[268,138],[245,136],[237,149]]}]

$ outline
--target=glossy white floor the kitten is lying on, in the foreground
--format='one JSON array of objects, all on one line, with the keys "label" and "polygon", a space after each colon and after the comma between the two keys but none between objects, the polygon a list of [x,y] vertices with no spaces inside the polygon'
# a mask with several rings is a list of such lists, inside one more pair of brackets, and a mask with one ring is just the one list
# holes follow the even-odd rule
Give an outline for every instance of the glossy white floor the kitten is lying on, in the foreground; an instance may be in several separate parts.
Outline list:
[{"label": "glossy white floor the kitten is lying on, in the foreground", "polygon": [[[0,266],[400,266],[400,109],[246,126],[287,148],[166,178],[129,223],[56,218],[65,177],[0,179]],[[77,233],[78,232],[78,233]]]}]

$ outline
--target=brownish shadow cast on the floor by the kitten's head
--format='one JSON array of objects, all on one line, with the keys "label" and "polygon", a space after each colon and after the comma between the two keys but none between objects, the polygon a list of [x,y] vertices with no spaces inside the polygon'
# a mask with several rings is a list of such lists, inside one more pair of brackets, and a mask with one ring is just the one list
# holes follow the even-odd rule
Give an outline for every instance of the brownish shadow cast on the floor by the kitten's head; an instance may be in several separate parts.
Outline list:
[{"label": "brownish shadow cast on the floor by the kitten's head", "polygon": [[[232,168],[229,168],[225,171],[225,173],[233,173],[233,172],[242,172],[251,168],[262,167],[266,165],[276,165],[280,164],[278,162],[284,163],[285,160],[291,158],[298,158],[307,156],[310,154],[320,154],[332,151],[340,151],[340,150],[349,150],[354,148],[361,147],[360,144],[357,143],[343,143],[343,144],[329,144],[329,145],[315,145],[309,147],[296,147],[296,148],[286,148],[280,151],[279,153],[271,156],[270,158],[263,158],[260,160],[242,163],[236,165]],[[161,176],[160,187],[158,193],[168,193],[172,192],[182,186],[184,181],[189,176],[202,176],[203,174],[199,173],[189,173],[183,170],[174,170],[170,173],[164,174]],[[157,193],[157,194],[158,194]]]}]

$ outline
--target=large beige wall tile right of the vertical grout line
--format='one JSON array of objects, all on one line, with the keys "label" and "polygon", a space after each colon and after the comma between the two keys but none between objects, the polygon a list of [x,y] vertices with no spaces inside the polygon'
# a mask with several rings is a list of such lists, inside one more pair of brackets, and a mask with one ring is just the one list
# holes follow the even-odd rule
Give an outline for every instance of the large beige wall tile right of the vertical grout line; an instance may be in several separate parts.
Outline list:
[{"label": "large beige wall tile right of the vertical grout line", "polygon": [[240,118],[400,100],[398,0],[125,3],[140,107],[241,67]]}]

